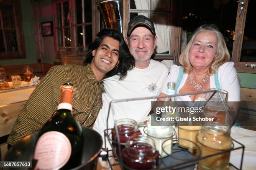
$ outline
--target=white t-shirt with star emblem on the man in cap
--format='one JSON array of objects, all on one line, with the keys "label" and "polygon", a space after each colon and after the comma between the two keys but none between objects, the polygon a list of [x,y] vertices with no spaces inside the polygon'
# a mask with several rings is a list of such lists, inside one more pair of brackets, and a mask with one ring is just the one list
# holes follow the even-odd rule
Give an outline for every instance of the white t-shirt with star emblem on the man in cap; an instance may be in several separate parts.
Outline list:
[{"label": "white t-shirt with star emblem on the man in cap", "polygon": [[[93,129],[104,137],[103,130],[107,127],[106,121],[110,101],[157,96],[162,91],[167,75],[168,69],[164,64],[151,60],[147,68],[139,69],[135,67],[133,70],[128,71],[127,76],[123,80],[119,80],[118,75],[103,80],[106,93],[102,94],[103,106],[97,116]],[[113,107],[116,120],[130,118],[138,121],[145,118],[151,110],[151,99],[119,102],[115,103]],[[113,110],[110,110],[108,128],[113,127]]]}]

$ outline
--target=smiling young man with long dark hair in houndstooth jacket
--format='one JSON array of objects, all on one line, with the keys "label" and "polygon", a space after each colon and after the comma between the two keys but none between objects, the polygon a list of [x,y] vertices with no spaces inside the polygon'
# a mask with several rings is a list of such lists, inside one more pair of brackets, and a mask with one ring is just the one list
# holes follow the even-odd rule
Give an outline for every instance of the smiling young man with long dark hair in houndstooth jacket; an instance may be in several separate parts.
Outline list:
[{"label": "smiling young man with long dark hair in houndstooth jacket", "polygon": [[123,36],[116,30],[103,29],[90,45],[84,65],[54,66],[41,79],[21,110],[8,138],[13,145],[42,128],[57,109],[60,86],[74,85],[73,116],[80,125],[92,128],[102,107],[102,78],[118,75],[123,79],[135,64]]}]

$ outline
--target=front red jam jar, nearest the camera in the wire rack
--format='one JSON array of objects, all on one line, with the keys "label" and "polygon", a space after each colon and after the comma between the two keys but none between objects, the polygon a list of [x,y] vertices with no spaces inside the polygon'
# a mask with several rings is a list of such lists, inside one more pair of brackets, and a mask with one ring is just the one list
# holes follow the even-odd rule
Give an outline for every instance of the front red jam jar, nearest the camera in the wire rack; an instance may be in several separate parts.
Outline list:
[{"label": "front red jam jar, nearest the camera in the wire rack", "polygon": [[159,165],[159,152],[153,139],[137,135],[126,142],[122,159],[125,169],[156,169]]}]

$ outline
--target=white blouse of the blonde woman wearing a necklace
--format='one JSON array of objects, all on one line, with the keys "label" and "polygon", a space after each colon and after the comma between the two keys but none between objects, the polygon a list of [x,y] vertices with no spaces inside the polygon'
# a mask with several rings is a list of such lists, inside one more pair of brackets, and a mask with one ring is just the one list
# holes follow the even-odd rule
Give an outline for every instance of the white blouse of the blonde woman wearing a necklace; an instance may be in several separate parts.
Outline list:
[{"label": "white blouse of the blonde woman wearing a necklace", "polygon": [[[177,65],[172,65],[170,68],[170,73],[167,77],[166,82],[164,83],[162,92],[166,94],[167,92],[167,82],[175,82],[179,76],[179,67]],[[177,89],[177,94],[179,90],[184,86],[187,80],[188,74],[183,75],[182,81]],[[225,62],[218,68],[218,80],[220,82],[220,88],[228,91],[228,101],[240,101],[241,90],[238,76],[236,73],[236,68],[234,67],[234,62]],[[214,75],[210,76],[210,88],[216,88]],[[190,97],[180,96],[179,100],[190,101]]]}]

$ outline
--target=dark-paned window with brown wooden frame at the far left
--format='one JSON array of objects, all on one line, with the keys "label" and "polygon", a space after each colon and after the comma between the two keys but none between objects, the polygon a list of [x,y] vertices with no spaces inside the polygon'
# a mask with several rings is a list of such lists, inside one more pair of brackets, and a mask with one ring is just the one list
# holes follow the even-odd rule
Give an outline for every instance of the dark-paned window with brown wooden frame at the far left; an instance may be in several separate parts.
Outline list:
[{"label": "dark-paned window with brown wooden frame at the far left", "polygon": [[0,1],[0,60],[25,57],[20,1]]}]

